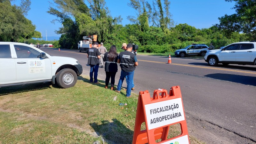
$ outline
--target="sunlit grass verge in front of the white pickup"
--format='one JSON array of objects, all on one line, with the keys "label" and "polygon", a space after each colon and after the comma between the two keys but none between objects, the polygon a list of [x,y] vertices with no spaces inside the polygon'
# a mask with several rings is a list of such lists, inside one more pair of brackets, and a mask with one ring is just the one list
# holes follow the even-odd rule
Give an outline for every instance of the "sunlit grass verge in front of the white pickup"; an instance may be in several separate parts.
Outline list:
[{"label": "sunlit grass verge in front of the white pickup", "polygon": [[125,91],[100,83],[79,76],[68,89],[50,83],[1,88],[0,143],[91,144],[102,137],[106,143],[132,143],[138,94],[126,98]]}]

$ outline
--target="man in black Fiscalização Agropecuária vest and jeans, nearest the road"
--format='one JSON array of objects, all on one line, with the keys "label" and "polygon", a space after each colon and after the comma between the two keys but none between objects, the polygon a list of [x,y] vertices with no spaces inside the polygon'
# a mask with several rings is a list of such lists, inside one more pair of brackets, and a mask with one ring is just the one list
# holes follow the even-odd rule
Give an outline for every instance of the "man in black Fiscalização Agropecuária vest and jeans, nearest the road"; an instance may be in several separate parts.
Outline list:
[{"label": "man in black Fiscaliza\u00e7\u00e3o Agropecu\u00e1ria vest and jeans, nearest the road", "polygon": [[127,76],[126,97],[129,98],[131,97],[132,80],[135,66],[138,66],[138,60],[135,54],[132,53],[132,44],[127,44],[126,51],[120,52],[117,62],[120,63],[120,67],[122,70],[116,92],[120,93],[124,78],[125,76]]}]

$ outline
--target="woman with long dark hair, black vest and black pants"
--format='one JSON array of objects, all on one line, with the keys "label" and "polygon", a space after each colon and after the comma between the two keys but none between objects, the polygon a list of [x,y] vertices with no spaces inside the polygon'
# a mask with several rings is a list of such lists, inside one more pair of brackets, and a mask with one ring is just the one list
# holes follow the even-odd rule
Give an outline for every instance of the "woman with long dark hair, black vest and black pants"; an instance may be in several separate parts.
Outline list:
[{"label": "woman with long dark hair, black vest and black pants", "polygon": [[116,46],[112,45],[109,52],[105,52],[103,61],[105,61],[105,71],[106,71],[106,85],[105,88],[108,88],[108,83],[111,77],[111,90],[114,90],[115,77],[117,72],[117,58],[118,54],[116,52]]}]

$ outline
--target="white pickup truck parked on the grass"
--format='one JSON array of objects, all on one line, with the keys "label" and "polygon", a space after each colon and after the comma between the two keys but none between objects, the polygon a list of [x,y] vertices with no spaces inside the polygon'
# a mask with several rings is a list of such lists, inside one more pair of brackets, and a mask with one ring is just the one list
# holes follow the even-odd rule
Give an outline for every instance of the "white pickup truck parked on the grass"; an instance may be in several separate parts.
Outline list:
[{"label": "white pickup truck parked on the grass", "polygon": [[74,58],[51,56],[32,45],[0,42],[0,87],[52,82],[61,88],[76,84],[83,72]]}]

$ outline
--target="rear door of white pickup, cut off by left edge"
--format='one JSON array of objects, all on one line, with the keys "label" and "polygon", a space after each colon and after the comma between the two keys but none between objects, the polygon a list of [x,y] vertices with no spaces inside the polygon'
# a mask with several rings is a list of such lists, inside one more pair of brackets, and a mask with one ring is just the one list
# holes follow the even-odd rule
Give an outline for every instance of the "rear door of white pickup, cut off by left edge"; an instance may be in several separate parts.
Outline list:
[{"label": "rear door of white pickup, cut off by left edge", "polygon": [[10,44],[0,44],[0,84],[16,81],[15,60]]}]

